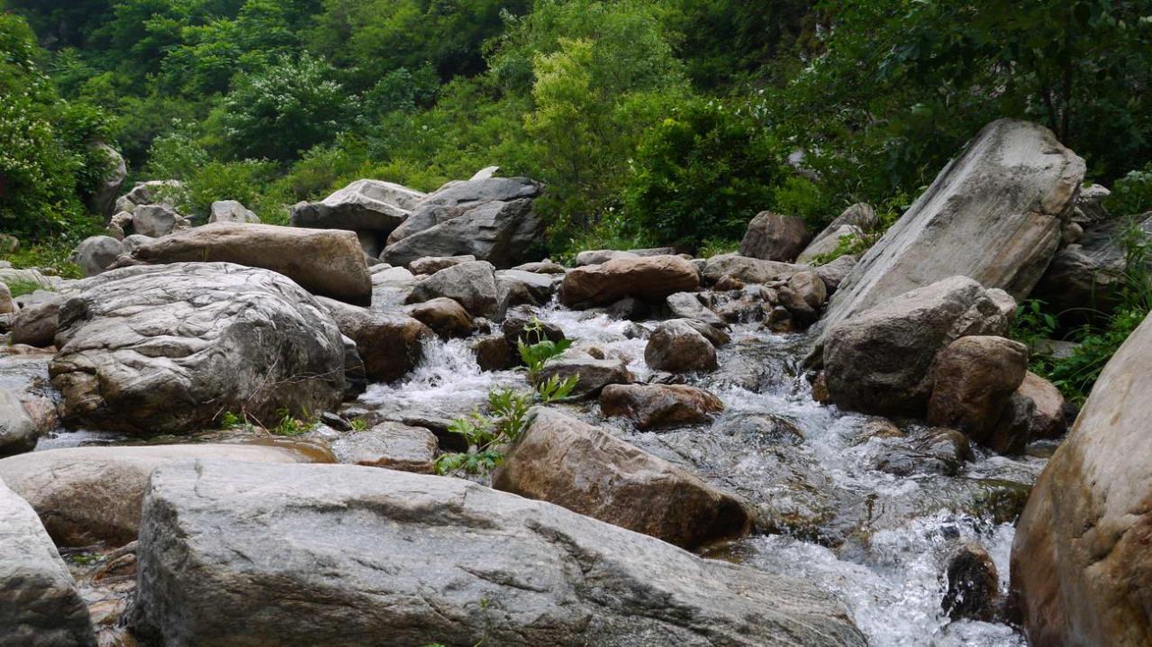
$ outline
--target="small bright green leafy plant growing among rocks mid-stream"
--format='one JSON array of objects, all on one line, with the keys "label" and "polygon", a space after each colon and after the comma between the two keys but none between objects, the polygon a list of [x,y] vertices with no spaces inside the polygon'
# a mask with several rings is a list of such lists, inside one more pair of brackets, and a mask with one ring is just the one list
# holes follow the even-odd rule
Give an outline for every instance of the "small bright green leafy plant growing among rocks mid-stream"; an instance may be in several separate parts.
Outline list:
[{"label": "small bright green leafy plant growing among rocks mid-stream", "polygon": [[528,367],[528,379],[532,391],[494,389],[488,392],[486,413],[473,409],[464,417],[457,417],[448,426],[448,431],[460,434],[468,444],[465,452],[442,453],[437,458],[437,474],[484,474],[495,469],[503,461],[503,447],[532,423],[529,409],[536,403],[548,404],[571,394],[579,382],[578,375],[561,378],[553,375],[539,379],[544,366],[563,354],[571,346],[570,339],[552,341],[545,338],[544,324],[533,318],[524,329],[525,336],[535,337],[529,344],[521,337],[516,346]]}]

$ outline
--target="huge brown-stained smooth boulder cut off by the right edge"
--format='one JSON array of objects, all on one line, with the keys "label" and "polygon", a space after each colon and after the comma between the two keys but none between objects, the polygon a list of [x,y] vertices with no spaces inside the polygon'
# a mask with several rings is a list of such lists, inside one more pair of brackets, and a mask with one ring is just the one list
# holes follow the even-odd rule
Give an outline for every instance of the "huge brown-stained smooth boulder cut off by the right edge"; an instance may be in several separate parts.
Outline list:
[{"label": "huge brown-stained smooth boulder cut off by the right edge", "polygon": [[1152,317],[1104,368],[1016,525],[1011,588],[1036,647],[1152,640]]}]

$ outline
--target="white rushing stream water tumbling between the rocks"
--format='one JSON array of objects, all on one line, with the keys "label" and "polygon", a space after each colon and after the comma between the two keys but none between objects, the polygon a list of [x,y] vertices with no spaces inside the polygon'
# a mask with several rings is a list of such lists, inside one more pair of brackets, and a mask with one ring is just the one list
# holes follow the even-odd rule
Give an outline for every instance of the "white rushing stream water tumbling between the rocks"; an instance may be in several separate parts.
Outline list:
[{"label": "white rushing stream water tumbling between the rocks", "polygon": [[[623,360],[637,379],[650,377],[643,359],[646,341],[627,336],[631,322],[555,306],[544,309],[540,318],[563,329],[577,351],[594,346],[608,358]],[[976,462],[955,476],[896,476],[878,471],[876,453],[882,447],[858,439],[869,419],[816,403],[798,375],[805,338],[774,334],[756,324],[738,324],[732,332],[733,341],[720,349],[720,370],[689,381],[725,401],[726,412],[712,426],[638,432],[620,420],[602,420],[594,404],[571,413],[738,491],[761,510],[835,507],[834,517],[843,521],[825,520],[825,526],[847,529],[834,540],[785,529],[753,534],[706,554],[816,584],[849,609],[871,645],[1023,646],[1023,638],[1008,625],[950,622],[940,608],[946,588],[942,572],[953,547],[975,541],[992,555],[1001,589],[1007,592],[1013,526],[971,513],[968,504],[986,491],[982,488],[992,487],[987,483],[996,488],[1015,484],[1026,491],[1043,460],[978,452]],[[425,415],[445,416],[471,409],[492,386],[510,384],[523,384],[523,377],[514,371],[482,373],[464,343],[431,341],[424,361],[408,378],[373,385],[359,404],[415,407]],[[742,444],[734,452],[732,447],[726,451],[723,443],[708,443],[726,421],[752,414],[772,414],[801,431],[803,439],[789,451],[808,471],[803,487],[779,477],[782,464],[774,449]]]}]

